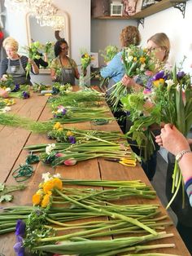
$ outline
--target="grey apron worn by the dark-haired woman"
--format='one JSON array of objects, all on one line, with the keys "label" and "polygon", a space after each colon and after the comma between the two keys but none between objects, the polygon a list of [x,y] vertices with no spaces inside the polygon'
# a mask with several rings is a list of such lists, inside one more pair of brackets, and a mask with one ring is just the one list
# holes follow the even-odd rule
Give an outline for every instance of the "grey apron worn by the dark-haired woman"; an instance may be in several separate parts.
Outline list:
[{"label": "grey apron worn by the dark-haired woman", "polygon": [[[61,83],[63,85],[70,83],[72,86],[75,86],[75,73],[73,68],[64,68],[61,60],[59,59],[61,64]],[[68,59],[69,64],[72,66],[71,61]]]}]

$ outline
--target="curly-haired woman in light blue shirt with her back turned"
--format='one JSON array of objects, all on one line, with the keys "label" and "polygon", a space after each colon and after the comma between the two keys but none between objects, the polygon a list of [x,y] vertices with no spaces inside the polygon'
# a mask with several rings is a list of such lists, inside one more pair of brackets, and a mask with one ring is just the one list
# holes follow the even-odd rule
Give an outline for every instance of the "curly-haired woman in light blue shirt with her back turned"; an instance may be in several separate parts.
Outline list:
[{"label": "curly-haired woman in light blue shirt with her back turned", "polygon": [[[122,47],[122,51],[117,53],[114,58],[107,64],[106,67],[102,68],[100,73],[103,78],[110,78],[108,83],[108,90],[107,95],[111,93],[111,86],[115,85],[116,82],[120,82],[122,77],[124,77],[125,69],[124,64],[122,62],[122,53],[123,48],[128,47],[130,45],[139,45],[141,42],[141,36],[137,29],[134,26],[127,26],[126,28],[122,29],[120,33],[120,43]],[[110,103],[109,103],[110,104]],[[120,107],[120,104],[119,104]],[[111,106],[111,111],[113,112],[114,117],[117,118],[118,124],[123,132],[125,132],[126,126],[126,113],[124,111],[118,109],[118,111],[113,111]]]}]

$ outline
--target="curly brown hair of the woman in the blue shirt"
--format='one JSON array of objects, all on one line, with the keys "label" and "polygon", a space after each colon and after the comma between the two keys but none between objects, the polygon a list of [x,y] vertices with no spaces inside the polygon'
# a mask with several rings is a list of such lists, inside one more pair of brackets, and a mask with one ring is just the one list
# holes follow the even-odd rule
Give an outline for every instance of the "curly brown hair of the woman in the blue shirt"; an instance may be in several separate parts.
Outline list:
[{"label": "curly brown hair of the woman in the blue shirt", "polygon": [[128,47],[130,45],[138,46],[141,42],[141,35],[135,26],[127,26],[122,29],[120,33],[120,42],[122,46]]}]

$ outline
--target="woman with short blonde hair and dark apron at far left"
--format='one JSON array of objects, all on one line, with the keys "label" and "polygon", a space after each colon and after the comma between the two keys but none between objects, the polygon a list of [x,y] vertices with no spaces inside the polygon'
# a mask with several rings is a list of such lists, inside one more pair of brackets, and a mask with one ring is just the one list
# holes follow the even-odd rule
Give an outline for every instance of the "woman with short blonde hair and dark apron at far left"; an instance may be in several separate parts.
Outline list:
[{"label": "woman with short blonde hair and dark apron at far left", "polygon": [[34,74],[39,73],[39,68],[34,60],[28,59],[28,57],[24,55],[18,54],[19,43],[16,42],[14,38],[6,38],[2,42],[2,46],[4,47],[7,58],[2,60],[1,68],[0,68],[0,77],[5,78],[7,74],[13,77],[13,81],[19,85],[33,85],[30,81],[30,75],[26,73],[27,64],[30,63],[32,65],[32,72]]}]

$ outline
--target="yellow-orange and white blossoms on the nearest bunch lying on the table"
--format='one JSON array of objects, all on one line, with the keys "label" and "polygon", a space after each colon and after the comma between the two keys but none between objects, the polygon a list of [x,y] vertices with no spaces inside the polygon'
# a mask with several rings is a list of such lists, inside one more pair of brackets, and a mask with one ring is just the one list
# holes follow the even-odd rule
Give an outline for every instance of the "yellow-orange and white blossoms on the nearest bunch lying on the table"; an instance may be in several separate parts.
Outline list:
[{"label": "yellow-orange and white blossoms on the nearest bunch lying on the table", "polygon": [[63,189],[63,183],[59,174],[50,175],[50,173],[42,174],[43,183],[39,184],[39,189],[33,195],[33,205],[41,205],[46,208],[51,204],[52,193],[54,189]]}]

